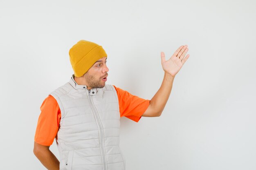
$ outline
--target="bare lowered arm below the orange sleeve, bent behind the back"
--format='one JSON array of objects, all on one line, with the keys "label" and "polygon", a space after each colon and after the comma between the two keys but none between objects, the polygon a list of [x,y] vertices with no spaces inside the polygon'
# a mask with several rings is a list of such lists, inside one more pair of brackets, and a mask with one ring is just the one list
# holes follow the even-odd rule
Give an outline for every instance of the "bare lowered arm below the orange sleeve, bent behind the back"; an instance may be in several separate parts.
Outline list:
[{"label": "bare lowered arm below the orange sleeve, bent behind the back", "polygon": [[49,150],[49,146],[43,146],[34,142],[34,154],[47,170],[59,170],[60,162]]}]

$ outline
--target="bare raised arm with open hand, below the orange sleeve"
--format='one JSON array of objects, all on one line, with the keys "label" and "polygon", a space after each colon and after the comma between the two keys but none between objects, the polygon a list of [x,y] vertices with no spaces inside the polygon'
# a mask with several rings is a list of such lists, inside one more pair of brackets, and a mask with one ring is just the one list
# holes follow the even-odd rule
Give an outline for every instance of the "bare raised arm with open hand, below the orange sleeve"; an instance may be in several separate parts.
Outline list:
[{"label": "bare raised arm with open hand, below the orange sleeve", "polygon": [[[189,54],[186,55],[187,45],[180,46],[179,49],[175,51],[173,56],[169,60],[165,60],[164,52],[161,52],[162,67],[164,70],[164,79],[161,87],[155,93],[154,97],[150,100],[150,104],[147,110],[142,115],[143,117],[158,117],[162,114],[166,102],[171,94],[171,89],[173,87],[173,80],[175,75],[180,71],[183,64],[189,58]],[[185,57],[186,55],[186,57]]]}]

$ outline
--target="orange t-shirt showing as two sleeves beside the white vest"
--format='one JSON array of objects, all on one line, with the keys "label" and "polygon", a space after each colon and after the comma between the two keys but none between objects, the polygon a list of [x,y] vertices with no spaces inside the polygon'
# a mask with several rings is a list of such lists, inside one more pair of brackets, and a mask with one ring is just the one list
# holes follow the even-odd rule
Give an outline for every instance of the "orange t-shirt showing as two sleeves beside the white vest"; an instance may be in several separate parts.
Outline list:
[{"label": "orange t-shirt showing as two sleeves beside the white vest", "polygon": [[[119,101],[120,117],[138,122],[149,106],[150,100],[139,98],[114,86]],[[36,127],[35,142],[44,146],[52,145],[61,121],[61,110],[56,99],[49,95],[40,107],[41,113]]]}]

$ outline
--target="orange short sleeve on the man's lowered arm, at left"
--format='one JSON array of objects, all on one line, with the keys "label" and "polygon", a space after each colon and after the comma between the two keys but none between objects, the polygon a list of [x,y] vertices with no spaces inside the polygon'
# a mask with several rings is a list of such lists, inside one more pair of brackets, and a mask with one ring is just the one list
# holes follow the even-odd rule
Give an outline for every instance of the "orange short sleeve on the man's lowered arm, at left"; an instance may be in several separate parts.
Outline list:
[{"label": "orange short sleeve on the man's lowered arm, at left", "polygon": [[34,141],[44,146],[50,146],[58,132],[61,110],[52,95],[43,101],[40,110]]}]

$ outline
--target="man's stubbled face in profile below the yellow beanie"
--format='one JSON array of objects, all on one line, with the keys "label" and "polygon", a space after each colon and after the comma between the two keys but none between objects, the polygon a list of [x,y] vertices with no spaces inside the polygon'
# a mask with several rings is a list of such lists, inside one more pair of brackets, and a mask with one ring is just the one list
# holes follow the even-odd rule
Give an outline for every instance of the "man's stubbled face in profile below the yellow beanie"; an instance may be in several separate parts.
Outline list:
[{"label": "man's stubbled face in profile below the yellow beanie", "polygon": [[108,76],[107,57],[102,57],[83,75],[87,88],[103,88]]}]

